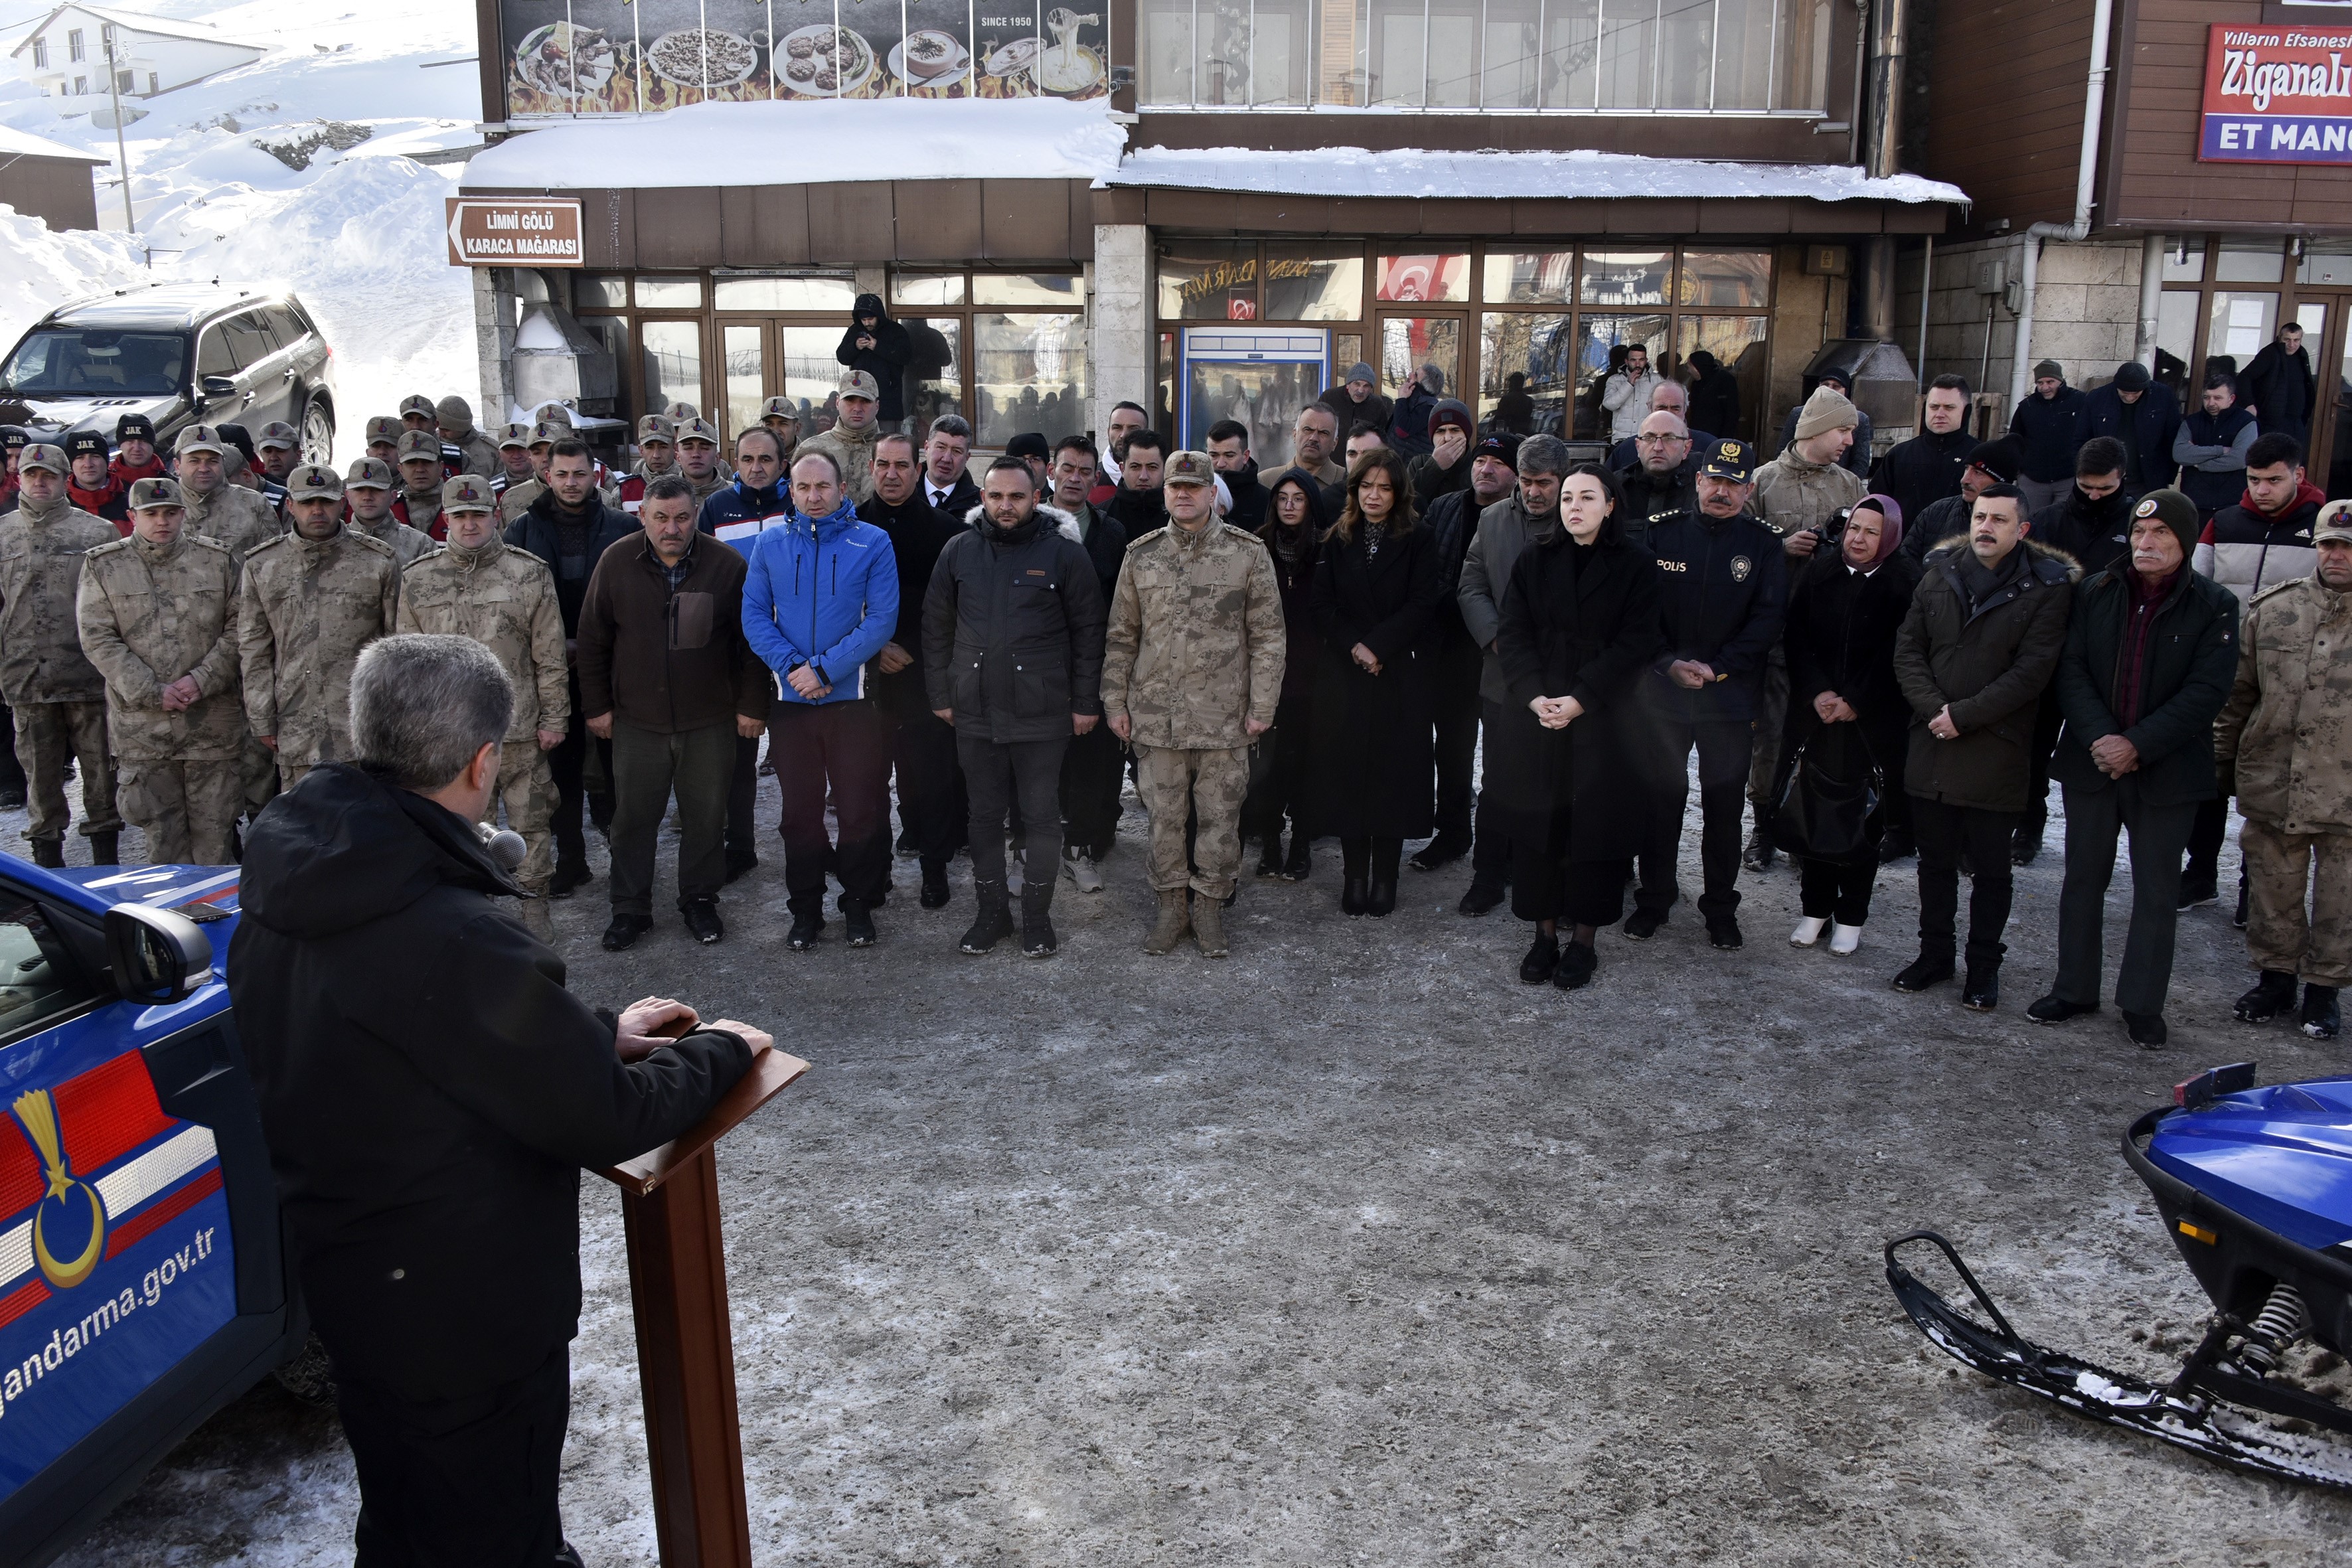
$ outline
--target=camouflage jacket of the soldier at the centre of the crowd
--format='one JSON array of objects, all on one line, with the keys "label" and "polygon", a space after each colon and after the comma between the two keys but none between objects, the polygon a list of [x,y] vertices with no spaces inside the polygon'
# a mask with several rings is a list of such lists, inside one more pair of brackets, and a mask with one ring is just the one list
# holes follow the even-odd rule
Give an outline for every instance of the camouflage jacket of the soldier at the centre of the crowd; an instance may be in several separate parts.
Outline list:
[{"label": "camouflage jacket of the soldier at the centre of the crowd", "polygon": [[1103,722],[1127,715],[1136,745],[1249,745],[1244,719],[1282,698],[1282,588],[1256,536],[1174,522],[1127,545],[1103,644]]}]

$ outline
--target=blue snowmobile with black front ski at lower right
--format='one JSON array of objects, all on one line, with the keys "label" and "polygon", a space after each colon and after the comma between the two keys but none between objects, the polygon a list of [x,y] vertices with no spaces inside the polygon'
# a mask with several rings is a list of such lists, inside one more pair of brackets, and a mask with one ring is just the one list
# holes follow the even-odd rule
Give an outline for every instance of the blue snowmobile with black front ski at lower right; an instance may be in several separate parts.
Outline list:
[{"label": "blue snowmobile with black front ski at lower right", "polygon": [[[1886,1244],[1886,1284],[1919,1333],[1987,1378],[2237,1469],[2352,1490],[2352,1408],[2274,1375],[2300,1340],[2352,1354],[2352,1077],[2256,1088],[2253,1063],[2213,1067],[2131,1124],[2124,1161],[2213,1300],[2171,1382],[2023,1338],[1931,1229]],[[1950,1260],[1978,1314],[1900,1262],[1917,1246]]]}]

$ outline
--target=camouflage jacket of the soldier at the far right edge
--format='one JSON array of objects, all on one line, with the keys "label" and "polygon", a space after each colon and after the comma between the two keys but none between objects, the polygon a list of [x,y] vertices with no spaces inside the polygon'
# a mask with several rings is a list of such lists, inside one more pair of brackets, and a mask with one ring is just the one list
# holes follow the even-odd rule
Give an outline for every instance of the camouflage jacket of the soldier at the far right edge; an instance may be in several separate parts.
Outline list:
[{"label": "camouflage jacket of the soldier at the far right edge", "polygon": [[2253,595],[2213,719],[2237,809],[2279,832],[2352,832],[2352,592],[2317,576]]}]

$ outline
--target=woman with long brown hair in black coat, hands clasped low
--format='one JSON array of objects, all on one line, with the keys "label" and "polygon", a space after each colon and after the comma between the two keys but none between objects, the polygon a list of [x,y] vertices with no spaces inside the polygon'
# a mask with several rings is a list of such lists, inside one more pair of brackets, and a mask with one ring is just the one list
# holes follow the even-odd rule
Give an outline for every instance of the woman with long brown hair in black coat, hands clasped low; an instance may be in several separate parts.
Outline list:
[{"label": "woman with long brown hair in black coat, hands clasped low", "polygon": [[1414,522],[1404,458],[1388,447],[1348,470],[1348,505],[1315,559],[1317,830],[1338,835],[1338,907],[1397,907],[1404,839],[1435,832],[1430,658],[1446,578]]}]

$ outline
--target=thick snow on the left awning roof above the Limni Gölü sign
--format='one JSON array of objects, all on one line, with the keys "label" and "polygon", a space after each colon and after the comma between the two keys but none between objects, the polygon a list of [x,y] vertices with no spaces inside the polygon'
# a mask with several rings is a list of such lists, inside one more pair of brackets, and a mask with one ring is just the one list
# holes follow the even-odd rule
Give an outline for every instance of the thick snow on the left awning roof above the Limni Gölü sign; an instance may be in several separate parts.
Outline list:
[{"label": "thick snow on the left awning roof above the Limni G\u00f6l\u00fc sign", "polygon": [[1063,99],[689,103],[508,136],[475,153],[463,188],[1103,179],[1120,167],[1124,143],[1101,103]]}]

